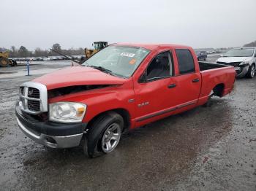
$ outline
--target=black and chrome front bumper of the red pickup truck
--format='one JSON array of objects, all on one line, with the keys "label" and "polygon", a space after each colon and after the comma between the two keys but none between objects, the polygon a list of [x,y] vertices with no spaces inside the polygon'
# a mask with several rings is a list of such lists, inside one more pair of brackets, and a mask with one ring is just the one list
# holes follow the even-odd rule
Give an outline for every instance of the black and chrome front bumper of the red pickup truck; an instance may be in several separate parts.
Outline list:
[{"label": "black and chrome front bumper of the red pickup truck", "polygon": [[16,106],[17,122],[20,130],[38,144],[51,148],[77,147],[86,128],[85,123],[61,124],[56,122],[31,121],[24,117]]}]

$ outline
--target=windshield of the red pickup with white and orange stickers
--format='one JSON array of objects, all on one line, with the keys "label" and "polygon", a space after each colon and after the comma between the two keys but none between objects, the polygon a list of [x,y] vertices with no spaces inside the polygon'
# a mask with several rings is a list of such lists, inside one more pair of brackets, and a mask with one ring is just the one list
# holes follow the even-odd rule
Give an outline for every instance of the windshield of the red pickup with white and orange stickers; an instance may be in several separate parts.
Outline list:
[{"label": "windshield of the red pickup with white and orange stickers", "polygon": [[94,66],[120,77],[130,77],[150,51],[142,47],[110,46],[97,52],[81,66]]}]

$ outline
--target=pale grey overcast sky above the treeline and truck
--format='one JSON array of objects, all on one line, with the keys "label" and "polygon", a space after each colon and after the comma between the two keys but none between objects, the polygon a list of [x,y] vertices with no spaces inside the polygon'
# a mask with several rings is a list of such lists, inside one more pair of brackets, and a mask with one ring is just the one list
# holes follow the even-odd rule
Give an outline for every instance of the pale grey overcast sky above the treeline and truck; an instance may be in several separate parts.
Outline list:
[{"label": "pale grey overcast sky above the treeline and truck", "polygon": [[0,47],[94,41],[236,47],[256,40],[256,0],[1,0]]}]

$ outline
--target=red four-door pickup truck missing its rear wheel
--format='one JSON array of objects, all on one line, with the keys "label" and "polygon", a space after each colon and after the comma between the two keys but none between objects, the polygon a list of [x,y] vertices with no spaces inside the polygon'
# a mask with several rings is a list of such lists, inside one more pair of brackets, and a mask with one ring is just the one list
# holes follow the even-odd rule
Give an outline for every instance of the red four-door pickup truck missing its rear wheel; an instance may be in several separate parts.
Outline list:
[{"label": "red four-door pickup truck missing its rear wheel", "polygon": [[112,152],[121,134],[230,93],[233,66],[197,62],[191,47],[111,44],[80,66],[20,85],[15,111],[26,136],[53,148]]}]

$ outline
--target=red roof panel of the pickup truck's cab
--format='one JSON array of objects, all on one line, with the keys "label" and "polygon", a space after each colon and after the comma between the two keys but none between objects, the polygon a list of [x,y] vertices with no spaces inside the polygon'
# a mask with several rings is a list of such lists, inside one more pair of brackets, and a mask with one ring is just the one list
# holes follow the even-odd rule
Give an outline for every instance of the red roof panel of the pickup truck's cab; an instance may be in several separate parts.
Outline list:
[{"label": "red roof panel of the pickup truck's cab", "polygon": [[179,45],[179,44],[140,44],[140,43],[116,43],[111,45],[118,45],[118,46],[129,46],[129,47],[143,47],[148,50],[156,50],[159,47],[171,47],[171,48],[187,48],[190,49],[192,47]]}]

